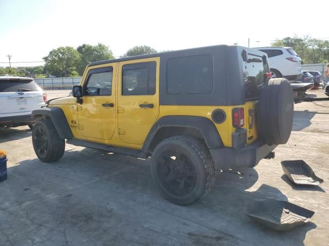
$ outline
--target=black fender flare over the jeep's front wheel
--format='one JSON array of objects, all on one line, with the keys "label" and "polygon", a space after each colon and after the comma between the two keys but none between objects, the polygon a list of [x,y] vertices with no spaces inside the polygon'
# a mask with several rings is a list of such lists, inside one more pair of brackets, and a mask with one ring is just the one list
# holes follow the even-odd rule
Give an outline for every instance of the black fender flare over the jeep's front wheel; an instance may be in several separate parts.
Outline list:
[{"label": "black fender flare over the jeep's front wheel", "polygon": [[67,123],[65,114],[61,108],[48,107],[32,111],[32,119],[38,119],[39,117],[48,117],[51,119],[52,124],[56,128],[61,138],[71,139],[73,138],[72,131]]}]

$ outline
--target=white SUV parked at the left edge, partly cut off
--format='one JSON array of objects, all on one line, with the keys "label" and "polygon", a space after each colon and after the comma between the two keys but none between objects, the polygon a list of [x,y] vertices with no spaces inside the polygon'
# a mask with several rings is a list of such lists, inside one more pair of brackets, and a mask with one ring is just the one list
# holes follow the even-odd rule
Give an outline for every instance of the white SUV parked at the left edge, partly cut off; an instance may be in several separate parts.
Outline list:
[{"label": "white SUV parked at the left edge, partly cut off", "polygon": [[31,113],[45,106],[47,95],[33,78],[0,76],[0,127],[33,127]]}]

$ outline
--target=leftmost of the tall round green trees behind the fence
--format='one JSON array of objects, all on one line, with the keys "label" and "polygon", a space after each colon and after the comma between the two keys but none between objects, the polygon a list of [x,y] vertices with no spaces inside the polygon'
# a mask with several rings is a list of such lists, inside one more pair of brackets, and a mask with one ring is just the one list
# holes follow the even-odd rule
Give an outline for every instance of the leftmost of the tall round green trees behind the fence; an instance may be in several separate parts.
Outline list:
[{"label": "leftmost of the tall round green trees behind the fence", "polygon": [[[74,74],[81,57],[74,48],[66,46],[53,49],[43,57],[45,70],[51,75],[66,77]],[[77,74],[77,73],[75,73]]]}]

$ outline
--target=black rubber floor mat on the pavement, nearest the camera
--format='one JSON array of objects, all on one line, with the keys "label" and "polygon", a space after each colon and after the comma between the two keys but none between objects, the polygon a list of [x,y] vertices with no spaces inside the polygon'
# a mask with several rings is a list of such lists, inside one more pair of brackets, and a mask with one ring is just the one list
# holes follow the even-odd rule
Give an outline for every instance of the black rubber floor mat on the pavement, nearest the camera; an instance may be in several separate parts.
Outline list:
[{"label": "black rubber floor mat on the pavement, nearest the camera", "polygon": [[287,201],[269,199],[249,204],[245,214],[272,229],[289,231],[308,222],[314,212]]}]

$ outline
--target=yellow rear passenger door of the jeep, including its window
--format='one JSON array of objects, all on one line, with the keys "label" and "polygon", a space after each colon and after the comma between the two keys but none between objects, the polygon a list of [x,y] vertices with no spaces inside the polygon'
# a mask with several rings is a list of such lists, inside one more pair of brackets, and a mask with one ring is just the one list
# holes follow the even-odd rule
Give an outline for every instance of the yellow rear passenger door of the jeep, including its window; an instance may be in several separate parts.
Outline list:
[{"label": "yellow rear passenger door of the jeep, including its window", "polygon": [[159,57],[122,61],[118,69],[118,127],[123,142],[143,144],[159,115]]}]

